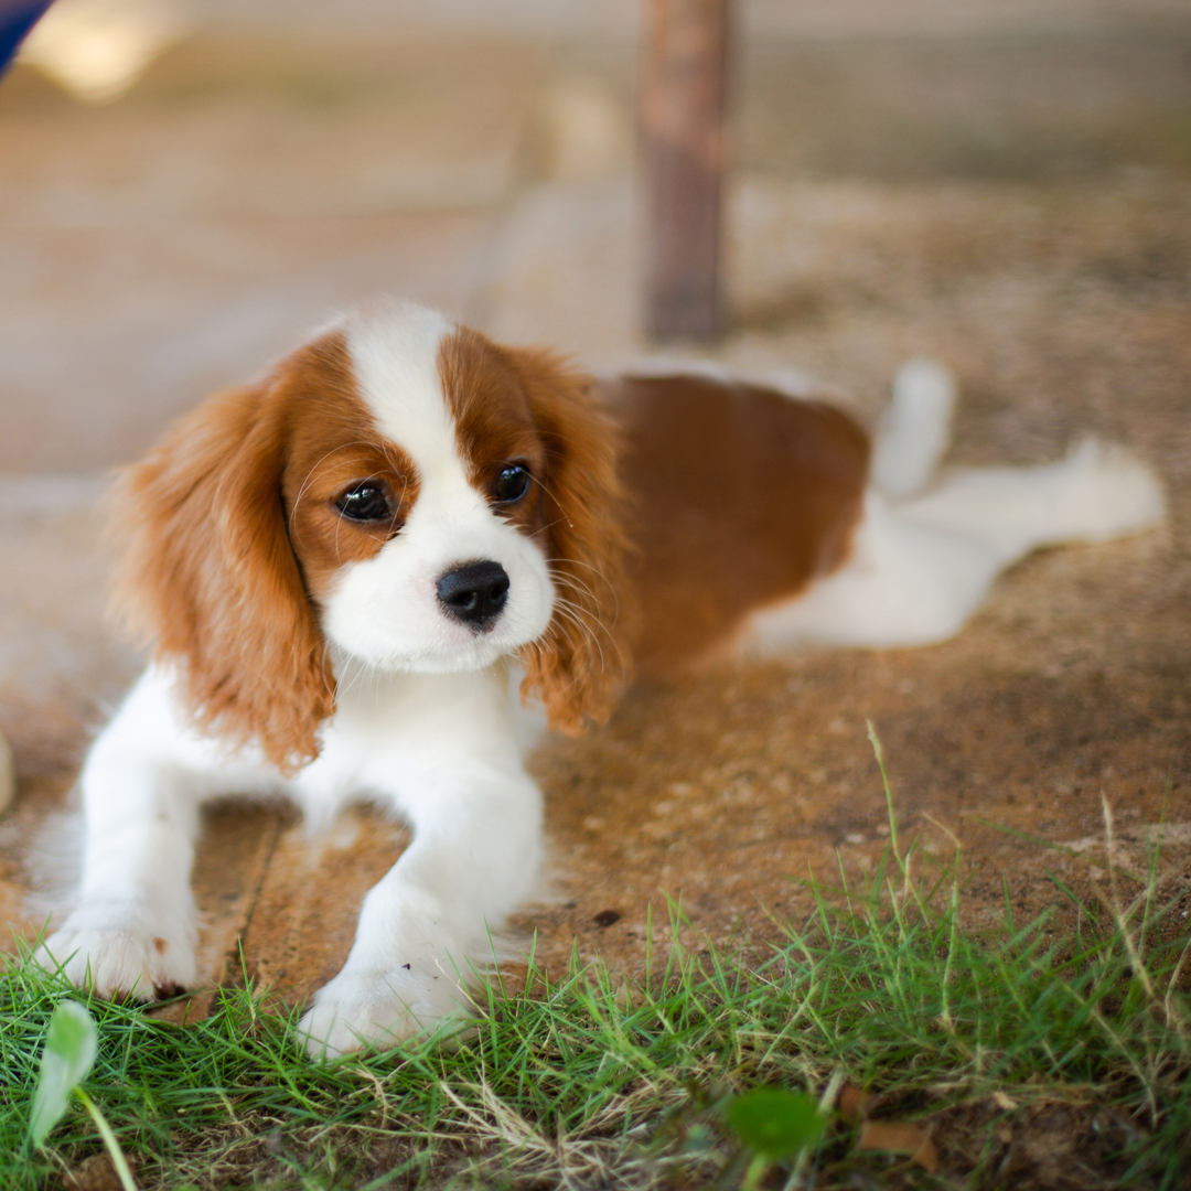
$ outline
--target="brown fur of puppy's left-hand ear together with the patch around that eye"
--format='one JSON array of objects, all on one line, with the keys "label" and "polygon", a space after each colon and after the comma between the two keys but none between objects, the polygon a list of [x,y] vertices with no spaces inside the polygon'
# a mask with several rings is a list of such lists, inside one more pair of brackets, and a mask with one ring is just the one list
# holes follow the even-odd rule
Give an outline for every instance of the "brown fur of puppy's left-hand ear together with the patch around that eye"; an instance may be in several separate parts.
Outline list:
[{"label": "brown fur of puppy's left-hand ear together with the patch around that eye", "polygon": [[112,493],[117,606],[177,667],[195,724],[258,742],[282,772],[318,754],[318,725],[335,710],[307,582],[322,591],[392,531],[331,507],[373,474],[409,503],[412,469],[379,442],[332,332],[182,418]]}]

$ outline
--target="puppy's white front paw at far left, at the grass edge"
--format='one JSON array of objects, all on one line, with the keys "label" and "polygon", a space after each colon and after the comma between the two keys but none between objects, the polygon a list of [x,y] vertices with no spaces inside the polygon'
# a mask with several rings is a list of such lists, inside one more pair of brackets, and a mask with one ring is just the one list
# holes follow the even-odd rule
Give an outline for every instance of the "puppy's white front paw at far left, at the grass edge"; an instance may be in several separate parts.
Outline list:
[{"label": "puppy's white front paw at far left, at the grass edge", "polygon": [[33,960],[76,987],[100,997],[160,1000],[198,981],[194,933],[154,922],[135,903],[102,903],[75,910]]}]

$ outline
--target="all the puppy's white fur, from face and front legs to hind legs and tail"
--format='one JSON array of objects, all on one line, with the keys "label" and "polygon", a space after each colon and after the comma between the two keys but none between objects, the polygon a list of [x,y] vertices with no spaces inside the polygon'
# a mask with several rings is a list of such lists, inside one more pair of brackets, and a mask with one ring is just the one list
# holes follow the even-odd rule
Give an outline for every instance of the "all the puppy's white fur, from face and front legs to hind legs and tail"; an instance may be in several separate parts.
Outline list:
[{"label": "all the puppy's white fur, from face and front legs to hind legs and tail", "polygon": [[[368,893],[347,964],[303,1018],[307,1048],[333,1056],[392,1043],[466,1011],[488,930],[537,880],[542,799],[523,765],[532,724],[511,655],[544,631],[554,592],[538,547],[467,481],[435,364],[449,329],[417,307],[347,324],[363,399],[413,459],[420,492],[401,532],[343,567],[324,601],[339,687],[320,755],[287,779],[255,747],[229,752],[188,727],[175,674],[151,666],[83,767],[76,909],[39,953],[71,981],[143,999],[193,985],[189,874],[205,802],[283,794],[328,824],[348,800],[368,798],[405,818],[413,843]],[[878,445],[904,490],[929,479],[950,411],[913,392],[905,400],[890,423],[894,445]],[[1160,516],[1153,476],[1095,444],[1048,467],[955,473],[900,504],[872,490],[852,560],[804,597],[756,613],[744,644],[772,653],[800,640],[936,641],[1034,545]],[[505,611],[481,635],[443,616],[435,592],[445,568],[479,559],[500,562],[511,580]]]}]

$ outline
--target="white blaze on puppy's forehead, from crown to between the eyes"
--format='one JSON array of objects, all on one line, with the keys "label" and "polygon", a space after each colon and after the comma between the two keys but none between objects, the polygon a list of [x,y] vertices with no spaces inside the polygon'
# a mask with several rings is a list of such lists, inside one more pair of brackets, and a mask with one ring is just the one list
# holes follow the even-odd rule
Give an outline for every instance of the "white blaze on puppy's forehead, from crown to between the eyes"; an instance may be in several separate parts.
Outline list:
[{"label": "white blaze on puppy's forehead, from crown to between the eyes", "polygon": [[376,428],[413,460],[423,481],[461,466],[438,373],[438,349],[455,325],[413,303],[354,317],[347,326],[360,397]]}]

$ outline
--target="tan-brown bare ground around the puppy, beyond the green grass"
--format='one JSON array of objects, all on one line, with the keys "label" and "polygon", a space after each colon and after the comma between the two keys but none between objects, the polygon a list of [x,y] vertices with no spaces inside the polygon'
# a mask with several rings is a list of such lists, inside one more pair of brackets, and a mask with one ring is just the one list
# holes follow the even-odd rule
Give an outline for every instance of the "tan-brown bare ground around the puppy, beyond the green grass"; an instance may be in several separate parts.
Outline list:
[{"label": "tan-brown bare ground around the puppy, beyond the green grass", "polygon": [[[0,905],[21,931],[23,854],[137,665],[101,618],[104,469],[378,292],[594,366],[647,347],[624,46],[430,39],[393,70],[375,44],[237,45],[197,38],[104,108],[26,68],[0,87],[0,728],[20,775]],[[1189,55],[1174,18],[747,48],[734,325],[678,351],[798,369],[869,419],[902,360],[935,355],[962,389],[953,461],[1037,462],[1095,432],[1158,468],[1170,517],[1035,555],[946,644],[638,687],[606,729],[548,742],[553,892],[513,924],[548,964],[578,939],[640,969],[669,899],[693,935],[762,942],[812,875],[872,872],[868,719],[922,862],[962,844],[971,922],[1006,894],[1018,917],[1061,909],[1054,879],[1109,900],[1110,861],[1128,899],[1161,821],[1186,930]],[[317,987],[404,838],[364,810],[314,849],[274,811],[213,813],[204,972],[232,978],[241,941],[252,974]]]}]

